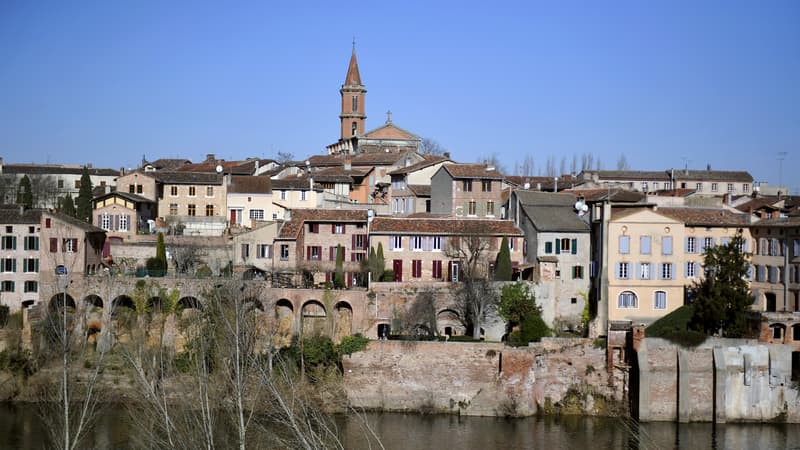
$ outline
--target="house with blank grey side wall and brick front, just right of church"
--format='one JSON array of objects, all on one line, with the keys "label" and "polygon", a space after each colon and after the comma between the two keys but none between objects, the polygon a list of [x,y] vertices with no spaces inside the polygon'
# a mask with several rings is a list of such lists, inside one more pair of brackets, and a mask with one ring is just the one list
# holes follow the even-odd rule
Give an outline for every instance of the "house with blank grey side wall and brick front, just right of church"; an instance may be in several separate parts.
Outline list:
[{"label": "house with blank grey side wall and brick front, just right of church", "polygon": [[503,175],[488,164],[442,165],[431,177],[431,213],[501,218]]}]

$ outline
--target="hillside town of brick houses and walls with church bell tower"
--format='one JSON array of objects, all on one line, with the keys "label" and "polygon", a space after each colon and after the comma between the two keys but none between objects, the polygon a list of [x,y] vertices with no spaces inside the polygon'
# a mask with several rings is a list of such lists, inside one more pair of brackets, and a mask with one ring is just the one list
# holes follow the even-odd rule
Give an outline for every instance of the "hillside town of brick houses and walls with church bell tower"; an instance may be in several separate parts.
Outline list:
[{"label": "hillside town of brick houses and walls with church bell tower", "polygon": [[[340,136],[325,154],[305,159],[146,155],[138,167],[119,169],[0,159],[4,321],[21,315],[22,345],[34,348],[36,324],[48,314],[83,311],[90,334],[99,336],[119,311],[158,309],[169,291],[175,310],[208,308],[209,292],[227,283],[256,305],[278,349],[303,336],[337,344],[367,338],[368,351],[342,361],[348,398],[362,407],[415,409],[423,401],[399,392],[402,380],[389,386],[392,368],[374,361],[383,354],[376,352],[419,352],[431,367],[439,361],[441,368],[431,369],[437,377],[426,375],[451,385],[428,387],[443,392],[432,400],[438,411],[529,415],[547,411],[545,395],[564,407],[572,386],[564,380],[552,383],[563,387],[559,394],[528,392],[509,412],[502,403],[509,396],[494,378],[494,399],[454,392],[454,379],[471,376],[454,367],[471,367],[477,357],[469,352],[477,352],[488,367],[479,369],[491,373],[473,378],[524,378],[548,351],[569,355],[584,340],[595,356],[575,359],[579,384],[602,386],[591,395],[616,400],[640,420],[800,420],[796,405],[773,401],[789,394],[764,394],[759,401],[768,406],[758,412],[731,406],[739,402],[732,392],[758,384],[753,379],[764,390],[797,396],[797,196],[754,181],[747,170],[642,171],[624,161],[604,170],[591,155],[573,157],[571,167],[562,162],[559,173],[552,164],[547,175],[519,166],[508,174],[501,166],[511,162],[458,161],[402,128],[391,112],[368,129],[366,92],[354,47],[339,91]],[[747,261],[748,327],[738,337],[748,340],[725,343],[725,330],[714,329],[708,334],[718,341],[698,347],[705,348],[694,350],[705,352],[698,356],[646,339],[651,324],[696,301],[716,270],[705,266],[709,251],[734,242]],[[498,305],[507,286],[524,286],[547,333],[525,339],[523,320],[504,317]],[[100,337],[92,339],[100,345]],[[175,339],[176,353],[187,339]],[[405,339],[420,346],[409,350],[399,343]],[[529,341],[539,350],[525,350]],[[778,344],[782,350],[769,347]],[[751,351],[756,356],[741,356]],[[669,368],[652,359],[659,352],[673,359]],[[514,375],[515,364],[526,369]],[[731,367],[746,375],[726,391],[720,374],[735,372]],[[719,378],[697,394],[700,388],[676,381],[687,368]],[[394,394],[377,400],[378,385]],[[695,405],[689,397],[708,401]],[[603,414],[585,400],[582,412]]]}]

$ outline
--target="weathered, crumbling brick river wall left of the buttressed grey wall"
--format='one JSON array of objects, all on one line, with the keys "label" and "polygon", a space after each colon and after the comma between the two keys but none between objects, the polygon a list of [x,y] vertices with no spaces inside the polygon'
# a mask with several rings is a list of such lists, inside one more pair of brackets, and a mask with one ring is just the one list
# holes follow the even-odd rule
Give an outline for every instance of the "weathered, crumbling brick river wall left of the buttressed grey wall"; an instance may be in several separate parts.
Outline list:
[{"label": "weathered, crumbling brick river wall left of the buttressed grey wall", "polygon": [[483,416],[608,415],[624,409],[624,376],[588,339],[530,347],[373,341],[345,357],[350,403],[386,411]]}]

